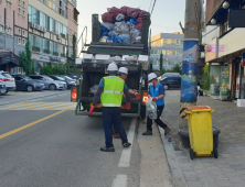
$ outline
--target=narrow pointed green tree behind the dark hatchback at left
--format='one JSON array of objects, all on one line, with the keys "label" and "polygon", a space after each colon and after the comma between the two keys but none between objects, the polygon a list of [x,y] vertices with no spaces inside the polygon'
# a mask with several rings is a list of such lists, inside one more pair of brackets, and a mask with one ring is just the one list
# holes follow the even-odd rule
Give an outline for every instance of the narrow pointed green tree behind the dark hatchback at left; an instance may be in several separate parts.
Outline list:
[{"label": "narrow pointed green tree behind the dark hatchback at left", "polygon": [[34,62],[32,61],[32,54],[30,51],[30,42],[25,44],[25,52],[20,54],[20,67],[23,68],[25,75],[32,75],[35,73],[34,70]]}]

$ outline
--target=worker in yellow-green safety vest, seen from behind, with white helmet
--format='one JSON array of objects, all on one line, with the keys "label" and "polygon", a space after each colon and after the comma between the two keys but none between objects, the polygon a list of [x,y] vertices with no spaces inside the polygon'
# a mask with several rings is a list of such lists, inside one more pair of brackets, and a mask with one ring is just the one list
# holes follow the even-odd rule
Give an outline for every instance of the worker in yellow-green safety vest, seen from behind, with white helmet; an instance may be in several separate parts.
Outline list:
[{"label": "worker in yellow-green safety vest, seen from behind, with white helmet", "polygon": [[131,143],[128,142],[126,131],[121,124],[121,102],[122,102],[122,94],[126,96],[126,108],[129,110],[130,106],[130,97],[128,89],[126,88],[125,80],[117,77],[116,74],[118,72],[118,67],[115,63],[110,63],[107,67],[109,76],[103,77],[100,79],[98,90],[96,91],[93,100],[93,105],[89,110],[89,116],[93,114],[93,111],[97,103],[102,102],[103,105],[103,127],[105,131],[106,138],[106,146],[100,147],[103,152],[115,152],[113,144],[113,133],[111,133],[111,124],[113,122],[116,124],[118,133],[121,139],[121,144],[124,147],[129,147]]}]

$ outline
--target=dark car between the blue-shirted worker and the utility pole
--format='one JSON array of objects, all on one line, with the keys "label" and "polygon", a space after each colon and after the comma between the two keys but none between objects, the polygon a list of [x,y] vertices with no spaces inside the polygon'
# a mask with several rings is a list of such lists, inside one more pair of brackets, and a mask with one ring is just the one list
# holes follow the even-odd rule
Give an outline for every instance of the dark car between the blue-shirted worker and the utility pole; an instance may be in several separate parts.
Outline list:
[{"label": "dark car between the blue-shirted worker and the utility pole", "polygon": [[162,76],[159,80],[162,86],[164,86],[164,89],[168,90],[170,88],[181,88],[181,76],[180,75],[166,75]]}]

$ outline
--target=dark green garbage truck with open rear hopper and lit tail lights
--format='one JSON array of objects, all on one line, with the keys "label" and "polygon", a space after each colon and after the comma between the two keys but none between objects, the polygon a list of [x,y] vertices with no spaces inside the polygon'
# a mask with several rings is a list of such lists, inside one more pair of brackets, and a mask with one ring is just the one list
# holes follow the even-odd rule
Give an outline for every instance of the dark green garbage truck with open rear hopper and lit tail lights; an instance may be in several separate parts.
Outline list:
[{"label": "dark green garbage truck with open rear hopper and lit tail lights", "polygon": [[[121,114],[143,119],[146,118],[148,99],[148,74],[152,69],[149,63],[150,16],[143,15],[141,42],[134,44],[99,42],[102,36],[100,24],[98,14],[93,14],[92,42],[87,44],[87,51],[83,51],[84,58],[79,65],[81,73],[77,75],[77,86],[71,89],[71,101],[77,102],[75,114],[88,116],[95,94],[92,89],[99,85],[103,77],[108,76],[107,66],[115,62],[118,68],[128,68],[127,87],[140,94],[140,99],[130,95],[130,110],[124,108],[126,99],[122,99]],[[93,116],[102,116],[100,103],[95,108]]]}]

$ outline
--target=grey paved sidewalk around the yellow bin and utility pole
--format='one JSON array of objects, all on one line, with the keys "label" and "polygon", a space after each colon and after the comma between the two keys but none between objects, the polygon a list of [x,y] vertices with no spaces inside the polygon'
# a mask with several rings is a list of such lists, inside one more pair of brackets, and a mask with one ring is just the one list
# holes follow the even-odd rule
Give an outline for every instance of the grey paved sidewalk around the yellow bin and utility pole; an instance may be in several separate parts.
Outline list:
[{"label": "grey paved sidewalk around the yellow bin and utility pole", "polygon": [[219,158],[190,158],[189,150],[181,146],[179,130],[180,90],[167,91],[162,120],[170,129],[172,142],[159,128],[175,187],[244,187],[245,186],[245,109],[235,102],[199,97],[199,106],[210,106],[213,127],[219,135]]}]

